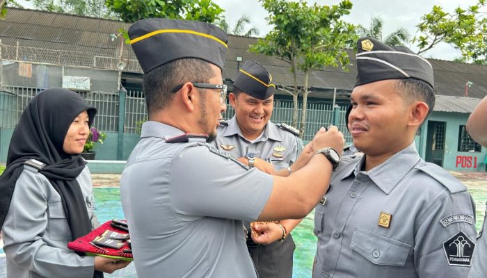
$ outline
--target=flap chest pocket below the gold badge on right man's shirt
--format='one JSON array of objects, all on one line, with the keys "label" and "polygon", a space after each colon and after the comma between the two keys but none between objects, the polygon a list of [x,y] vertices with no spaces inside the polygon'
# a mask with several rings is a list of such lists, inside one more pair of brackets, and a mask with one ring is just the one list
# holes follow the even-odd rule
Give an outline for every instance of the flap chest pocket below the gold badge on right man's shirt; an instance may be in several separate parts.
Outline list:
[{"label": "flap chest pocket below the gold badge on right man's shirt", "polygon": [[402,277],[402,268],[397,267],[405,265],[412,246],[357,227],[353,231],[350,247],[354,253],[353,268],[382,274],[387,272],[388,277]]}]

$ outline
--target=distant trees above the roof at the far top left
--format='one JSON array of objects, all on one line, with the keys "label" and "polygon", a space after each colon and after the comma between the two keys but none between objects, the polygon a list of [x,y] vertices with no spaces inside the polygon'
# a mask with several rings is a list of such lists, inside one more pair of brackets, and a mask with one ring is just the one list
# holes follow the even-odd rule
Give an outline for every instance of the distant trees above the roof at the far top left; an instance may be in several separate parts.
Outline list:
[{"label": "distant trees above the roof at the far top left", "polygon": [[54,13],[68,13],[105,19],[117,19],[105,6],[105,0],[26,0],[31,1],[35,8]]}]

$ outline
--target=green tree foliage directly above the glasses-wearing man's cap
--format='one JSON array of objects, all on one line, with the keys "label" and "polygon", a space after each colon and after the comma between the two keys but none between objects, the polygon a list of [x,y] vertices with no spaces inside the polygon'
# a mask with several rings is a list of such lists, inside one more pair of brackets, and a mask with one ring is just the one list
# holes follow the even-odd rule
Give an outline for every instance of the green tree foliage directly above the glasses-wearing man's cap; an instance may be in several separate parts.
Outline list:
[{"label": "green tree foliage directly above the glasses-wearing man's cap", "polygon": [[211,0],[106,0],[106,6],[128,23],[150,17],[213,23],[223,13]]}]

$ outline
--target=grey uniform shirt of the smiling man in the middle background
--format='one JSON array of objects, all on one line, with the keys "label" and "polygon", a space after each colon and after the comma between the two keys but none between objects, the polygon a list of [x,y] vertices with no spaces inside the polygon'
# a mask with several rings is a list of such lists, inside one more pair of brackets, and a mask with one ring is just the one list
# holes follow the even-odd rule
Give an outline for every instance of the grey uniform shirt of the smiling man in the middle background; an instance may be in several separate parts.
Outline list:
[{"label": "grey uniform shirt of the smiling man in the middle background", "polygon": [[250,142],[241,133],[235,117],[227,125],[218,127],[218,136],[214,143],[219,150],[234,158],[253,152],[258,158],[270,161],[276,171],[292,165],[303,150],[303,141],[298,136],[271,121],[267,122],[262,136],[255,142]]}]

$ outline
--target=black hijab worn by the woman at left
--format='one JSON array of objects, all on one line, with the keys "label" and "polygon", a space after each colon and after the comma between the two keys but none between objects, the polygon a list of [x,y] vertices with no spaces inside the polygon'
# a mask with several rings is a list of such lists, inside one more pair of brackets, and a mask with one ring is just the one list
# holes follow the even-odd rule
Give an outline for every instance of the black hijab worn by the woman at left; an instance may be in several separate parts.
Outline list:
[{"label": "black hijab worn by the woman at left", "polygon": [[96,108],[86,104],[76,92],[65,89],[44,90],[29,102],[13,131],[7,167],[0,176],[0,228],[8,213],[15,183],[24,170],[22,163],[34,158],[47,164],[39,172],[49,179],[52,187],[61,195],[72,238],[79,238],[91,231],[86,203],[76,180],[86,167],[86,162],[79,154],[71,155],[63,151],[67,130],[83,111],[88,112],[91,126]]}]

